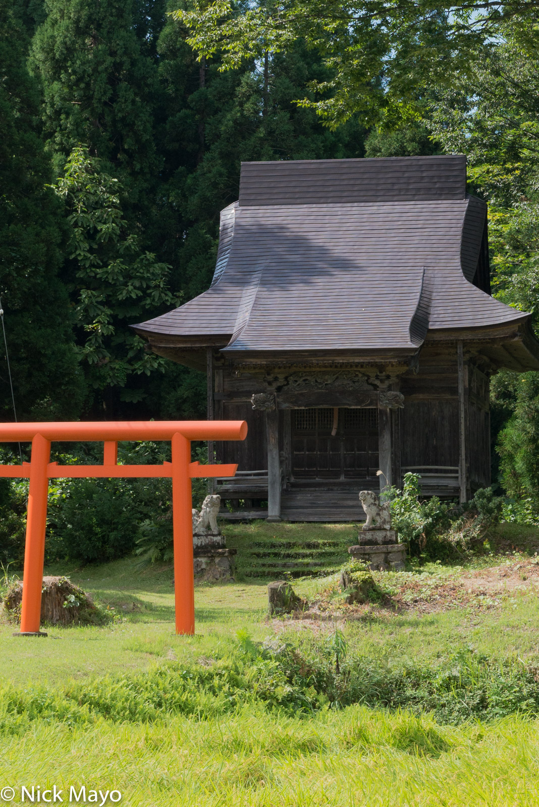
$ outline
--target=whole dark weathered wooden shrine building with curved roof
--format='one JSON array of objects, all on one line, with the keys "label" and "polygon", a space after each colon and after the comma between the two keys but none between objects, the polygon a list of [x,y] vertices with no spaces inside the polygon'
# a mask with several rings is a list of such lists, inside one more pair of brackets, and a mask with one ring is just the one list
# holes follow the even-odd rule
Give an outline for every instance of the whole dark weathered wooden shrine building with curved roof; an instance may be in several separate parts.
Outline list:
[{"label": "whole dark weathered wooden shrine building with curved roof", "polygon": [[539,369],[529,314],[491,297],[461,156],[244,163],[211,287],[136,331],[207,371],[208,417],[248,421],[217,491],[270,521],[355,520],[407,470],[470,498],[491,374]]}]

